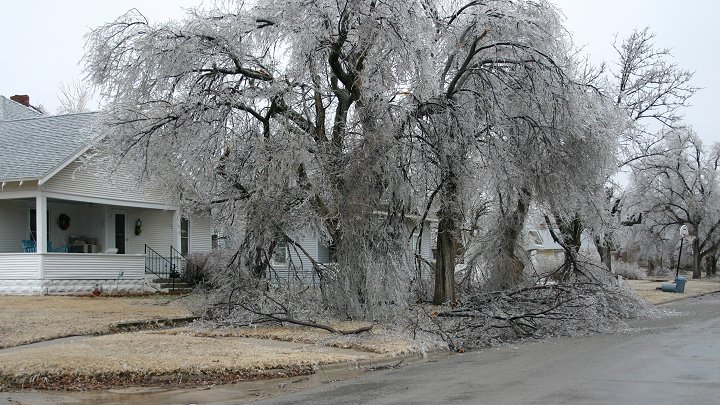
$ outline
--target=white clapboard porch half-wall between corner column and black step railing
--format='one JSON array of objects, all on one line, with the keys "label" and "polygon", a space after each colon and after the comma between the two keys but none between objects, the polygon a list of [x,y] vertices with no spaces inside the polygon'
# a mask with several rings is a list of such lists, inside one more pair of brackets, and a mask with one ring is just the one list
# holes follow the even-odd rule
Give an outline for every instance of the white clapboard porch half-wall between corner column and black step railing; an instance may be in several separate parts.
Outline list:
[{"label": "white clapboard porch half-wall between corner column and black step railing", "polygon": [[140,279],[145,276],[145,256],[84,253],[43,255],[44,278],[75,280]]}]

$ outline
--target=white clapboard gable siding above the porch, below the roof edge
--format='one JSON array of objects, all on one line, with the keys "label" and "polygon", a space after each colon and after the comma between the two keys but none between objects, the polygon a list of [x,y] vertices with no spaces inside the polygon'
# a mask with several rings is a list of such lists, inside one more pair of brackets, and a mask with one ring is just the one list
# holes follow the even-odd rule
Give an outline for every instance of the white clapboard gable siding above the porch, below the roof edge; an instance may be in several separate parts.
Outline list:
[{"label": "white clapboard gable siding above the porch, below the roof edge", "polygon": [[108,184],[97,174],[79,167],[78,162],[70,163],[45,183],[45,191],[122,201],[167,202],[154,188],[136,184],[129,171],[119,170]]}]

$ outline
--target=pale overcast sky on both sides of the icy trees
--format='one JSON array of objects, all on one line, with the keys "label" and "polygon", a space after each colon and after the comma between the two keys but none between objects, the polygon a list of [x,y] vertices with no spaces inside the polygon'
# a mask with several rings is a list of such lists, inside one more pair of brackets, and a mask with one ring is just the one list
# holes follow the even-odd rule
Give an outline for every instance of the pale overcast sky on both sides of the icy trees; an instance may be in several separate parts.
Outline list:
[{"label": "pale overcast sky on both sides of the icy trees", "polygon": [[[552,0],[563,11],[575,43],[591,60],[614,58],[615,35],[651,27],[658,46],[671,48],[681,66],[695,72],[702,87],[685,112],[706,142],[720,141],[715,115],[720,100],[720,2],[714,0]],[[62,83],[82,77],[78,61],[83,36],[92,28],[137,8],[151,21],[182,16],[201,0],[3,1],[0,12],[0,95],[28,94],[34,105],[54,113]],[[207,3],[207,2],[206,2]]]}]

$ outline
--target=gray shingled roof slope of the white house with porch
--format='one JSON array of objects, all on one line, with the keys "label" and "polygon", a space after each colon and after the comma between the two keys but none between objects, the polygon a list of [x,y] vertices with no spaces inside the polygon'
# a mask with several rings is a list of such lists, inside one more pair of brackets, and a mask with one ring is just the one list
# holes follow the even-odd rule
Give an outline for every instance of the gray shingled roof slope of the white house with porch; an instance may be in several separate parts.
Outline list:
[{"label": "gray shingled roof slope of the white house with porch", "polygon": [[0,121],[0,182],[40,180],[86,149],[97,113]]}]

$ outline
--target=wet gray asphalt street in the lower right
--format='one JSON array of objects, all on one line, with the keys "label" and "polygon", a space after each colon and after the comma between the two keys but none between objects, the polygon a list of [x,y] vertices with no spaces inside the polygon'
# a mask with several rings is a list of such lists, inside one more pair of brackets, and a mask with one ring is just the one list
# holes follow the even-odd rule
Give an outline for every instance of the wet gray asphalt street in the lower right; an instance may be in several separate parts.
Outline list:
[{"label": "wet gray asphalt street in the lower right", "polygon": [[259,404],[718,404],[720,294],[627,333],[472,351]]}]

